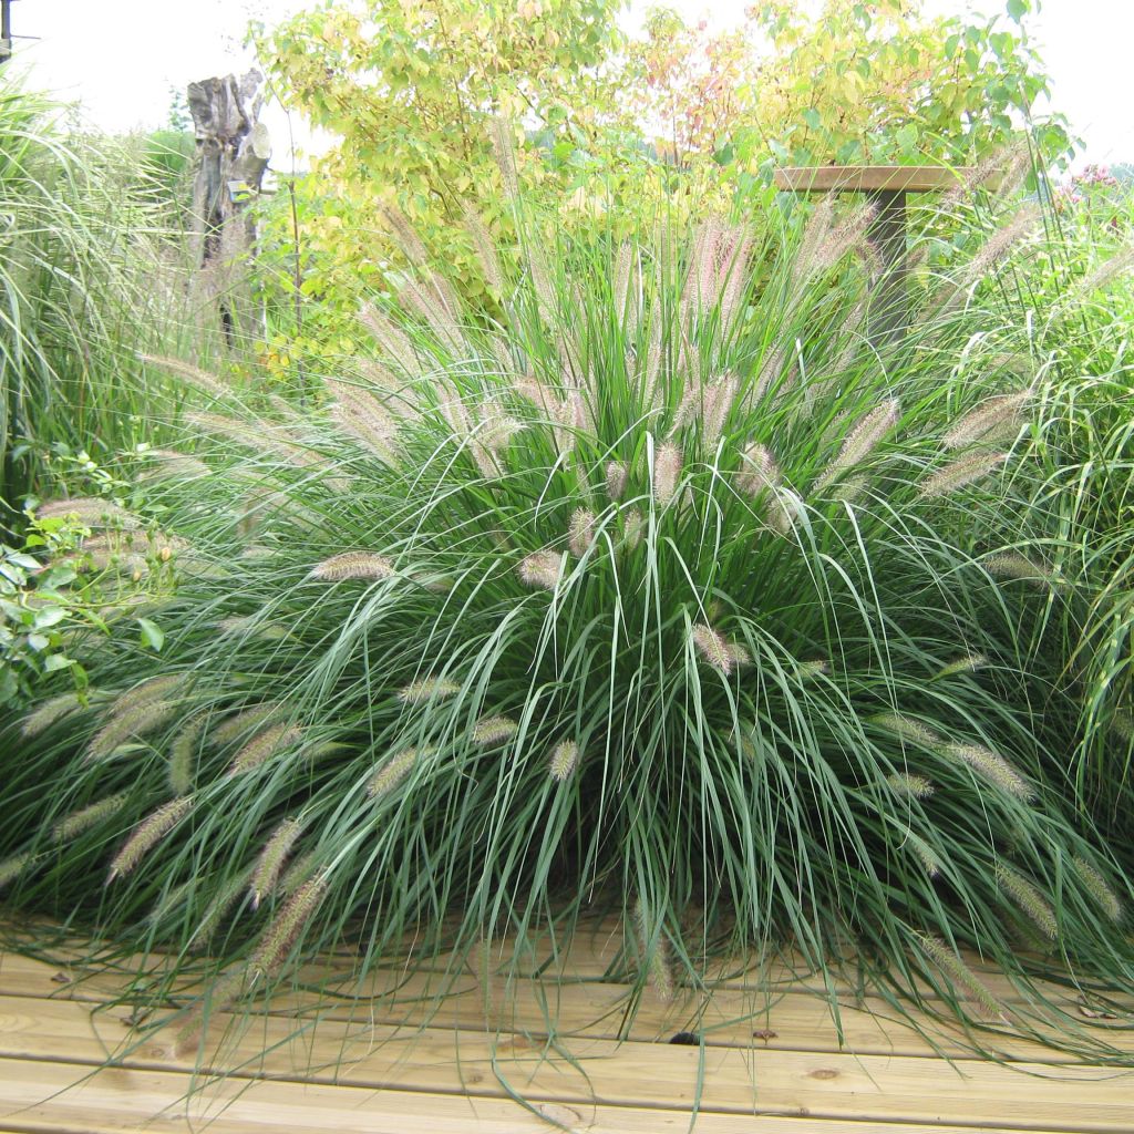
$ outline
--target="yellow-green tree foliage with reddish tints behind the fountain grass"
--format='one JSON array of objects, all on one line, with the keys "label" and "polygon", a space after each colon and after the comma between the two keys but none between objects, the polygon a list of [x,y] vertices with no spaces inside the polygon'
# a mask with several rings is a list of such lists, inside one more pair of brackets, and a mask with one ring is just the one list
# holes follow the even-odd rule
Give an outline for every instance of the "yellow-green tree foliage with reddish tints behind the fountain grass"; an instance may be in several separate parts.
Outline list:
[{"label": "yellow-green tree foliage with reddish tints behind the fountain grass", "polygon": [[[828,0],[809,17],[768,2],[721,35],[658,9],[627,40],[618,7],[340,0],[259,29],[284,101],[341,138],[297,187],[303,288],[323,311],[322,325],[306,321],[316,341],[289,352],[354,346],[332,313],[353,311],[404,263],[386,205],[463,295],[491,307],[467,209],[476,226],[508,229],[498,118],[516,124],[527,200],[555,200],[576,231],[602,215],[628,234],[661,211],[682,222],[752,206],[776,163],[980,159],[1047,88],[1024,32],[1005,18],[929,19],[897,0]],[[1053,129],[1058,150],[1066,137]],[[289,204],[277,201],[265,225],[281,281],[291,277]],[[294,331],[290,305],[278,310]]]}]

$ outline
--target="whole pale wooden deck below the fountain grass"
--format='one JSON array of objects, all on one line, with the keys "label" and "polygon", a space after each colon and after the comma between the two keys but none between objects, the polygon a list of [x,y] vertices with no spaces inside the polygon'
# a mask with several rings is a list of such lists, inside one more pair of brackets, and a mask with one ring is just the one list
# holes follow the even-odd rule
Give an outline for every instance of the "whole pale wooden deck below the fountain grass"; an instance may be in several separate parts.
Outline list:
[{"label": "whole pale wooden deck below the fountain grass", "polygon": [[[510,991],[469,976],[432,1016],[429,973],[372,974],[332,1007],[325,996],[318,1006],[312,995],[279,996],[219,1048],[213,1033],[225,1029],[212,1029],[204,1065],[223,1077],[174,1053],[163,1032],[132,1041],[126,1009],[105,1007],[108,978],[0,955],[0,1134],[521,1134],[552,1124],[661,1134],[688,1131],[699,1097],[702,1134],[1134,1132],[1134,1073],[1070,1065],[1023,1041],[1001,1066],[946,1036],[949,1060],[880,1018],[885,1001],[849,991],[840,1044],[806,981],[770,1004],[752,975],[706,1005],[648,995],[627,1030],[627,987],[610,982],[604,949],[581,946],[560,980]],[[781,975],[764,971],[761,988]],[[1013,995],[1007,982],[996,991]],[[316,1008],[318,1026],[296,1038]],[[549,1010],[570,1033],[569,1058],[547,1048]],[[703,1046],[670,1042],[687,1030]],[[1134,1052],[1134,1032],[1110,1039]]]}]

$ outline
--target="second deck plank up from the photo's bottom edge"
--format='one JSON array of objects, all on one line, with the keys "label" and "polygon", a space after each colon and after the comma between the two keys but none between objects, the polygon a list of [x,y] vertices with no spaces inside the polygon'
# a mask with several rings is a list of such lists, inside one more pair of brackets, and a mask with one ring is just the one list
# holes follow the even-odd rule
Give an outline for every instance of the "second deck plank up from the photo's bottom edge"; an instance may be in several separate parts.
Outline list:
[{"label": "second deck plank up from the photo's bottom edge", "polygon": [[[576,1109],[688,1111],[700,1078],[701,1099],[714,1114],[1108,1134],[1128,1134],[1134,1117],[1134,1073],[1098,1068],[735,1048],[706,1049],[702,1064],[695,1048],[601,1040],[572,1043],[568,1061],[523,1036],[496,1042],[474,1032],[324,1021],[289,1041],[289,1029],[279,1017],[251,1017],[223,1039],[215,1066],[236,1068],[235,1077],[477,1097],[499,1097],[502,1076],[524,1098]],[[96,1065],[125,1039],[119,1018],[92,1016],[76,1002],[7,998],[0,1008],[0,1050],[9,1058]],[[192,1070],[194,1059],[176,1056],[171,1040],[156,1033],[125,1065]]]}]

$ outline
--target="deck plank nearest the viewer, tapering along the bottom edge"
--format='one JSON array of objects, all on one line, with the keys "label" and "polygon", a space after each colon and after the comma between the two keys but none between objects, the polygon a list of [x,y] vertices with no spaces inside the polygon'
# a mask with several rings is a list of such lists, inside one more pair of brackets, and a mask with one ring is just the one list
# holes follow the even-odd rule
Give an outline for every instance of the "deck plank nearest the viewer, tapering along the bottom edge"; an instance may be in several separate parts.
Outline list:
[{"label": "deck plank nearest the viewer, tapering along the bottom edge", "polygon": [[[186,1099],[188,1076],[175,1072],[104,1070],[84,1078],[77,1064],[0,1059],[0,1122],[19,1134],[548,1134],[538,1114],[502,1099],[463,1099],[353,1086],[237,1083]],[[82,1082],[79,1082],[82,1081]],[[78,1083],[78,1085],[73,1085]],[[680,1111],[625,1107],[545,1107],[548,1118],[587,1134],[687,1134]],[[162,1117],[156,1117],[162,1116]],[[209,1125],[203,1124],[208,1120]],[[753,1117],[711,1111],[697,1134],[973,1134],[937,1124]],[[1009,1134],[981,1125],[982,1134]],[[1047,1127],[1032,1134],[1057,1134]]]}]

